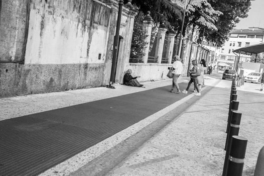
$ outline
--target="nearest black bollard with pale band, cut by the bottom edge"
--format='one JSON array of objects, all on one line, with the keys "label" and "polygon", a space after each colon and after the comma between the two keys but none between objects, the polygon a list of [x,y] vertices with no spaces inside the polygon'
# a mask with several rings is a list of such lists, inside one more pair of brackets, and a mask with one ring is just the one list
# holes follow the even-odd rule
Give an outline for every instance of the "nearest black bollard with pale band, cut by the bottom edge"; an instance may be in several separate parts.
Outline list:
[{"label": "nearest black bollard with pale band, cut by the bottom edge", "polygon": [[247,139],[232,136],[226,176],[242,176]]}]

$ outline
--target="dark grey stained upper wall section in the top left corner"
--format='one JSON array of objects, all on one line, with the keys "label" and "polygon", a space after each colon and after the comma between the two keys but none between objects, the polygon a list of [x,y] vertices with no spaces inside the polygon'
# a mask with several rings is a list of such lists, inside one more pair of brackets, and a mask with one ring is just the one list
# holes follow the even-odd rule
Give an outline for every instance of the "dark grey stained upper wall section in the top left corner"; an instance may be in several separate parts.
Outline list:
[{"label": "dark grey stained upper wall section in the top left corner", "polygon": [[28,20],[27,0],[0,1],[0,61],[23,62]]}]

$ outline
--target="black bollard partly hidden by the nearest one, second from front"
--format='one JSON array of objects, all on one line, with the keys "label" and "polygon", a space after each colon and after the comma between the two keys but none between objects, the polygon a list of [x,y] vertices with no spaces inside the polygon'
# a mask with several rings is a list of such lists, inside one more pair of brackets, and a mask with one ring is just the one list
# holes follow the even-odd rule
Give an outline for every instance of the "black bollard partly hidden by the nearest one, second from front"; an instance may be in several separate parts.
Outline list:
[{"label": "black bollard partly hidden by the nearest one, second from front", "polygon": [[229,131],[226,135],[224,150],[227,150],[227,148],[230,147],[231,137],[233,135],[238,135],[241,116],[242,116],[241,113],[231,111],[231,116],[230,116],[231,123],[230,123]]}]

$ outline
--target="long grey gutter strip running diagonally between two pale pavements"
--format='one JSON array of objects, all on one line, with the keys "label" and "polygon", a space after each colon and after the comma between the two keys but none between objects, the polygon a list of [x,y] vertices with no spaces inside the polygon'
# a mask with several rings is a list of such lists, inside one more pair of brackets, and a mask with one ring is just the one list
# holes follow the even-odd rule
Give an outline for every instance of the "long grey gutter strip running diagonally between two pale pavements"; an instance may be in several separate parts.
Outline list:
[{"label": "long grey gutter strip running diagonally between two pale pavements", "polygon": [[[202,90],[202,92],[209,92],[219,81],[214,83],[212,86],[206,86],[205,89]],[[130,137],[105,151],[92,161],[80,167],[78,170],[72,172],[70,175],[102,176],[107,174],[110,170],[112,170],[115,166],[122,162],[129,154],[137,150],[146,141],[157,134],[161,129],[163,129],[172,121],[178,119],[181,114],[183,114],[191,105],[193,105],[198,100],[199,97],[191,94],[181,99],[180,101],[164,108],[163,110],[153,114],[152,116],[159,115],[160,117],[139,130],[137,133],[131,135]],[[151,116],[149,116],[148,118],[150,117]]]}]

